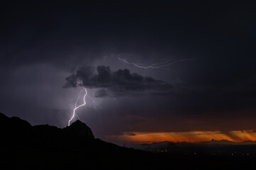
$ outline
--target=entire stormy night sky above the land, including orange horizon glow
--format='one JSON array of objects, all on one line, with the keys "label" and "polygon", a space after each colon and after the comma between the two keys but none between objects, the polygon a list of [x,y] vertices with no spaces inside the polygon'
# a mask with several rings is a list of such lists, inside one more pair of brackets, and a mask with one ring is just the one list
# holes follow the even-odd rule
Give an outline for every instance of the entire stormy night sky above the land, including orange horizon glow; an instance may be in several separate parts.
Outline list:
[{"label": "entire stormy night sky above the land, including orange horizon glow", "polygon": [[[0,112],[63,128],[86,88],[97,111],[86,98],[74,120],[102,140],[256,140],[255,8],[253,1],[2,4]],[[174,64],[144,69],[120,58]]]}]

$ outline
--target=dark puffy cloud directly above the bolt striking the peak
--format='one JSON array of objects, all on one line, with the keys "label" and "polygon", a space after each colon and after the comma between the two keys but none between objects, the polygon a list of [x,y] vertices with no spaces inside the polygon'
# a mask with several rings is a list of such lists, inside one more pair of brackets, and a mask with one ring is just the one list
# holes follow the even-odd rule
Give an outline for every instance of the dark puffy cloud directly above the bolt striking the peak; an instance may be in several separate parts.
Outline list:
[{"label": "dark puffy cloud directly above the bolt striking the peak", "polygon": [[129,69],[119,69],[112,72],[110,67],[98,66],[97,74],[91,67],[80,67],[75,74],[66,78],[65,88],[85,86],[100,89],[95,97],[118,97],[140,95],[146,92],[154,95],[170,95],[173,86],[166,81],[142,77],[137,73],[131,74]]}]

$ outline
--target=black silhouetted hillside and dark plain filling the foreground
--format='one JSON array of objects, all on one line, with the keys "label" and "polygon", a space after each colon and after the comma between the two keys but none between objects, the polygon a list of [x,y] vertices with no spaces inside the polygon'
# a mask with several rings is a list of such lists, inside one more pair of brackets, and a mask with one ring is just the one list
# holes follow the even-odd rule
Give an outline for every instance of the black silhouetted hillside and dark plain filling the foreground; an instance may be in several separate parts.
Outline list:
[{"label": "black silhouetted hillside and dark plain filling the foreground", "polygon": [[250,145],[248,155],[217,155],[218,149],[211,155],[196,147],[186,147],[188,153],[175,147],[159,153],[119,147],[95,139],[79,120],[60,129],[32,126],[0,113],[0,135],[1,169],[246,169],[256,161],[255,147]]}]

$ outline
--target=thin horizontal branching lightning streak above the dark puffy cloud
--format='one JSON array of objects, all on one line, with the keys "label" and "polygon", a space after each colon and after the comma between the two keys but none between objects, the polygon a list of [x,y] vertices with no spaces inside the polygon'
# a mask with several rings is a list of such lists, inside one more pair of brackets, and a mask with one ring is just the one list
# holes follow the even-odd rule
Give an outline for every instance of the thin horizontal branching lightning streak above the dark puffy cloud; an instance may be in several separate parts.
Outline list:
[{"label": "thin horizontal branching lightning streak above the dark puffy cloud", "polygon": [[120,60],[122,62],[125,62],[127,64],[132,64],[133,66],[139,67],[139,68],[142,68],[142,69],[159,69],[159,68],[162,68],[162,67],[169,67],[170,65],[175,64],[177,62],[191,61],[191,60],[194,60],[194,59],[183,59],[183,60],[171,61],[171,58],[166,57],[166,58],[160,60],[159,62],[148,65],[148,66],[146,66],[144,64],[137,64],[137,63],[134,63],[134,62],[128,62],[127,60],[124,60],[120,57],[118,57],[118,60]]}]

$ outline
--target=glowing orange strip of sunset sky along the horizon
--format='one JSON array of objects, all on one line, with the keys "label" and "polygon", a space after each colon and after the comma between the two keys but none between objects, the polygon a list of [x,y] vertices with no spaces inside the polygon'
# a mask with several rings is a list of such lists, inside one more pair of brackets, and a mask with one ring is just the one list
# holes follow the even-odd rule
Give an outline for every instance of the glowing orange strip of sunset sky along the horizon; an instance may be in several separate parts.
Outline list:
[{"label": "glowing orange strip of sunset sky along the horizon", "polygon": [[256,141],[255,130],[242,131],[192,131],[192,132],[124,132],[123,135],[109,135],[108,140],[129,143],[152,142],[205,142],[210,140],[229,140],[243,142],[245,140]]}]

